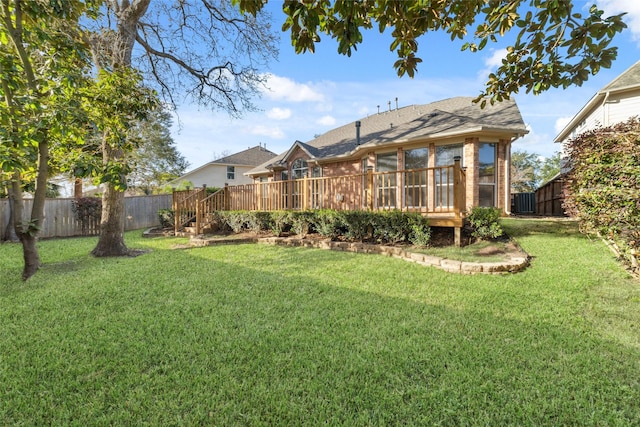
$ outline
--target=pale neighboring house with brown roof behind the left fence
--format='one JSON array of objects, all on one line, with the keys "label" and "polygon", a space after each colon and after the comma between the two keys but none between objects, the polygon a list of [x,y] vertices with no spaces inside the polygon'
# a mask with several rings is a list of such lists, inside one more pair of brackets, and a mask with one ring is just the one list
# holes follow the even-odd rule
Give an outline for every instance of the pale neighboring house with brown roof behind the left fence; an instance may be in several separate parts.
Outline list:
[{"label": "pale neighboring house with brown roof behind the left fence", "polygon": [[175,179],[172,184],[188,181],[195,187],[206,185],[209,188],[249,184],[253,180],[245,173],[275,156],[276,153],[258,145],[202,165]]}]

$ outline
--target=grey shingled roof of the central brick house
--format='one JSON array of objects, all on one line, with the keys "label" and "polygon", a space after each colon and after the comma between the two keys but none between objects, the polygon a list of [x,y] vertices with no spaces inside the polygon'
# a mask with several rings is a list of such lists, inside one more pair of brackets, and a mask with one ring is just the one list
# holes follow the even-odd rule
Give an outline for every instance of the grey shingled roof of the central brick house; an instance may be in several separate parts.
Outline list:
[{"label": "grey shingled roof of the central brick house", "polygon": [[[513,100],[483,109],[473,97],[449,98],[424,105],[411,105],[367,116],[330,130],[306,143],[296,141],[285,153],[247,172],[247,175],[266,173],[287,161],[295,147],[305,151],[311,159],[325,160],[345,157],[361,149],[380,145],[411,142],[427,138],[468,134],[482,130],[527,133],[520,111]],[[356,124],[360,123],[357,141]]]}]

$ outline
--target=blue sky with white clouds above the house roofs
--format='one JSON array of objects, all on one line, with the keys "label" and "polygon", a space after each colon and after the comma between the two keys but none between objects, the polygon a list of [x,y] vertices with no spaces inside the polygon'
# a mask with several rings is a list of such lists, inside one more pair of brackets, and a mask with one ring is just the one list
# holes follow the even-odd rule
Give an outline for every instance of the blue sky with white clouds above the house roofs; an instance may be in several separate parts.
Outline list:
[{"label": "blue sky with white clouds above the house roofs", "polygon": [[[271,1],[275,26],[284,15],[279,2]],[[592,1],[576,0],[586,10]],[[529,133],[517,139],[512,150],[549,157],[560,151],[555,136],[602,87],[640,60],[640,1],[598,0],[605,15],[627,12],[628,28],[614,39],[618,58],[610,69],[591,76],[581,87],[551,89],[543,94],[513,95]],[[430,33],[418,39],[423,62],[413,79],[398,77],[389,50],[391,38],[377,31],[364,40],[351,57],[337,52],[336,42],[324,36],[315,53],[295,54],[289,35],[281,33],[277,61],[264,70],[267,88],[254,99],[259,111],[234,119],[224,111],[212,112],[196,105],[178,108],[171,135],[187,159],[188,170],[222,155],[262,144],[276,154],[296,141],[313,139],[333,128],[351,123],[378,109],[427,104],[456,96],[477,96],[491,71],[497,68],[506,44],[488,45],[471,53],[460,51],[462,41],[446,34]],[[640,113],[640,112],[639,112]]]}]

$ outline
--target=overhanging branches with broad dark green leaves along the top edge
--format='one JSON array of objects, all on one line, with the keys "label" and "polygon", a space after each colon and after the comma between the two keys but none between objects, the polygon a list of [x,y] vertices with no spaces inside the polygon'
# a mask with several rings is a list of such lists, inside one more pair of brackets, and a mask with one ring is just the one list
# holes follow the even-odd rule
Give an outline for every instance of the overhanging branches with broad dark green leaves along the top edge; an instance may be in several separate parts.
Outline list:
[{"label": "overhanging branches with broad dark green leaves along the top edge", "polygon": [[[253,14],[264,6],[253,0],[233,1]],[[350,56],[363,41],[361,30],[377,24],[381,33],[391,31],[398,75],[410,77],[422,62],[416,54],[423,34],[444,31],[453,41],[472,33],[474,40],[464,43],[462,50],[476,52],[517,31],[502,65],[489,75],[478,96],[484,105],[487,99],[508,99],[521,87],[537,94],[551,87],[580,86],[590,74],[611,66],[617,48],[609,45],[626,27],[624,14],[605,18],[592,6],[583,16],[575,9],[571,0],[285,0],[282,29],[290,32],[297,53],[313,52],[324,33],[337,39],[339,53]]]}]

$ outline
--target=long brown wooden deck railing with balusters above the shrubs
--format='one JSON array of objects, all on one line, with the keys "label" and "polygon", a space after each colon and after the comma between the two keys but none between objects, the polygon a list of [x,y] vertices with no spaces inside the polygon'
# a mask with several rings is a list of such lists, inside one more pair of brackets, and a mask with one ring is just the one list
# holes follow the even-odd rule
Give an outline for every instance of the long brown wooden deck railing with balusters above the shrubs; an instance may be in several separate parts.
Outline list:
[{"label": "long brown wooden deck railing with balusters above the shrubs", "polygon": [[434,168],[225,186],[207,197],[204,189],[175,192],[176,231],[192,222],[200,233],[206,218],[221,210],[398,209],[460,218],[465,182],[456,161]]}]

